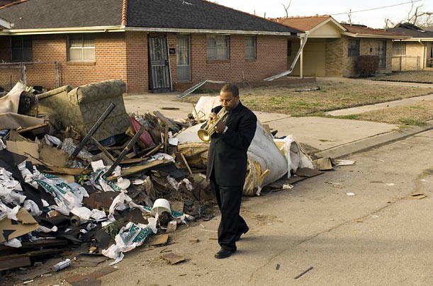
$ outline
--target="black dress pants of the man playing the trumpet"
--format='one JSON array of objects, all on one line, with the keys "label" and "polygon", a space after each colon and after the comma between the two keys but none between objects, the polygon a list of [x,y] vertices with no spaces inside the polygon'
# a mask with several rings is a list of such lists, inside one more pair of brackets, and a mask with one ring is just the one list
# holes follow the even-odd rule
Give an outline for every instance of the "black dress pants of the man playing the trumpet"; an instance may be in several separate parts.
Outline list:
[{"label": "black dress pants of the man playing the trumpet", "polygon": [[210,188],[215,193],[221,212],[220,226],[218,227],[218,244],[220,244],[221,248],[236,251],[236,235],[247,228],[247,223],[239,214],[243,185],[218,185],[212,174],[210,176]]}]

